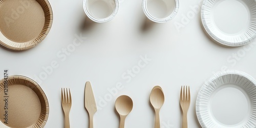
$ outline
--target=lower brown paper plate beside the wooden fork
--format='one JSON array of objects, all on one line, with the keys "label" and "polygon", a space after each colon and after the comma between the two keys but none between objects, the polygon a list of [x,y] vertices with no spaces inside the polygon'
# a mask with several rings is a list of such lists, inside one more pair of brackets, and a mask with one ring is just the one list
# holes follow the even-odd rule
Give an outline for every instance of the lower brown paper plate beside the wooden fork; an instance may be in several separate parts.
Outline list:
[{"label": "lower brown paper plate beside the wooden fork", "polygon": [[5,86],[5,79],[0,80],[0,127],[44,127],[49,116],[44,91],[25,76],[9,76],[7,81]]}]

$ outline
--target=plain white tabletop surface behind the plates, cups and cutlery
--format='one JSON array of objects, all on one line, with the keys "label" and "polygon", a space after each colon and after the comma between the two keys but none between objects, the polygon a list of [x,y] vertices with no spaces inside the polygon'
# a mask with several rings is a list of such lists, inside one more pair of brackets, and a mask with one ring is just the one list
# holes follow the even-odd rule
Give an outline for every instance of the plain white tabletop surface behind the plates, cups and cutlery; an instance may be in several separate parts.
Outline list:
[{"label": "plain white tabletop surface behind the plates, cups and cutlery", "polygon": [[[200,1],[180,1],[178,15],[164,24],[148,21],[142,1],[122,0],[113,20],[93,23],[82,8],[81,0],[49,0],[53,9],[53,25],[48,36],[38,46],[23,52],[0,49],[0,71],[9,75],[24,75],[36,80],[46,93],[50,114],[45,127],[63,127],[60,103],[61,88],[70,88],[72,109],[71,127],[88,127],[89,117],[84,109],[84,85],[90,80],[95,99],[101,110],[94,115],[94,127],[118,127],[115,99],[129,95],[134,108],[125,120],[125,127],[154,127],[154,110],[149,96],[156,85],[162,87],[165,102],[160,111],[161,127],[181,127],[179,93],[181,86],[190,86],[191,103],[188,126],[200,127],[195,113],[198,91],[215,72],[234,69],[256,77],[255,40],[242,47],[227,48],[212,41],[201,25]],[[193,15],[195,14],[195,15]],[[190,15],[188,22],[182,22]],[[182,24],[182,28],[175,25]],[[87,37],[66,58],[62,50],[71,48],[75,35]],[[123,79],[127,70],[138,66],[140,56],[150,58],[147,65],[131,80]],[[238,56],[238,57],[234,57]],[[44,68],[57,62],[57,68]],[[36,77],[40,78],[38,80]],[[117,83],[123,89],[108,97]],[[99,108],[98,108],[99,109]]]}]

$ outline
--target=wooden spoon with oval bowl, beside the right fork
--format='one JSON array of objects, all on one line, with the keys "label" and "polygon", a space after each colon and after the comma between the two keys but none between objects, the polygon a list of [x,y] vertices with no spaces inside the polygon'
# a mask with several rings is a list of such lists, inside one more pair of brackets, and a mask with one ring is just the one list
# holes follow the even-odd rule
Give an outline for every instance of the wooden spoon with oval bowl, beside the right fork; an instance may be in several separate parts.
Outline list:
[{"label": "wooden spoon with oval bowl, beside the right fork", "polygon": [[155,128],[160,128],[159,111],[164,103],[163,90],[159,86],[155,86],[150,94],[150,102],[155,109]]}]

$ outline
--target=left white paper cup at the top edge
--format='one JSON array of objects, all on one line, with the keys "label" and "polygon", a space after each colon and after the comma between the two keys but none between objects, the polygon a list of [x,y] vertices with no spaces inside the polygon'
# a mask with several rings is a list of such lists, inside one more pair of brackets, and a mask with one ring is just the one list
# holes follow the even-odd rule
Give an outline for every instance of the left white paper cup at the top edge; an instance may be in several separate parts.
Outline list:
[{"label": "left white paper cup at the top edge", "polygon": [[83,0],[86,15],[97,23],[108,22],[118,11],[118,0]]}]

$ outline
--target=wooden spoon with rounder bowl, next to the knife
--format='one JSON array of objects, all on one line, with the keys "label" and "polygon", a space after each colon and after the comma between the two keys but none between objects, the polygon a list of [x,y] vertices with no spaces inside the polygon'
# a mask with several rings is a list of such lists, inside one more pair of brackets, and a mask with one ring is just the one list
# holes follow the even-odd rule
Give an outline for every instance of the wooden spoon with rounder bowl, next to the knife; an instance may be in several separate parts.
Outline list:
[{"label": "wooden spoon with rounder bowl, next to the knife", "polygon": [[119,96],[115,102],[116,111],[120,115],[120,125],[119,128],[124,128],[124,121],[126,116],[133,109],[133,100],[129,96]]}]

